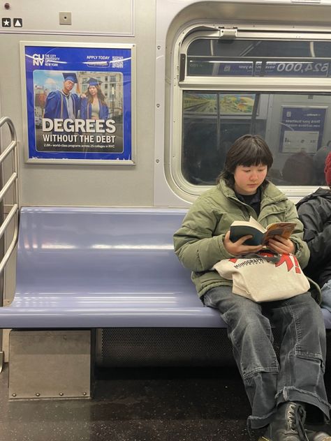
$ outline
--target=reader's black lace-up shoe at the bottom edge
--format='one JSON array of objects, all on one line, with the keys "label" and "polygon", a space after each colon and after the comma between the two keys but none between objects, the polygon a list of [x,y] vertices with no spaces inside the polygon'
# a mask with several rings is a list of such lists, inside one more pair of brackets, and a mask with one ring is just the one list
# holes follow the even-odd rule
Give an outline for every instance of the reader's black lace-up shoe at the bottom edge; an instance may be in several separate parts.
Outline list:
[{"label": "reader's black lace-up shoe at the bottom edge", "polygon": [[302,405],[291,401],[282,403],[279,405],[274,419],[267,426],[267,431],[258,441],[309,441],[304,431],[305,419],[306,412]]}]

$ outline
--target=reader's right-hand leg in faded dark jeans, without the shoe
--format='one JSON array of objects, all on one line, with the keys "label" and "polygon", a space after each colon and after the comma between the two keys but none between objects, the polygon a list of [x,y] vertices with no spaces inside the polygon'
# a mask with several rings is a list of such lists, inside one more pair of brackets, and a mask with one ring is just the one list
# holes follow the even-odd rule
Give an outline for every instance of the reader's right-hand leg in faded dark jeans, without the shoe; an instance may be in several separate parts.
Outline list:
[{"label": "reader's right-hand leg in faded dark jeans, without the shoe", "polygon": [[281,331],[277,405],[305,403],[329,417],[324,370],[326,338],[321,308],[309,293],[272,302],[271,322]]}]

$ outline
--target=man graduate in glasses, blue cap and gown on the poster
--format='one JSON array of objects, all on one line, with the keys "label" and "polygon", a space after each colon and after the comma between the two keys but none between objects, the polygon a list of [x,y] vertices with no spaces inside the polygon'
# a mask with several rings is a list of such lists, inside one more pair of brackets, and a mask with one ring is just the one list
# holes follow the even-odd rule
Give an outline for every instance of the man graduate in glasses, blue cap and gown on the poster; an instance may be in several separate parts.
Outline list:
[{"label": "man graduate in glasses, blue cap and gown on the poster", "polygon": [[46,98],[44,118],[73,119],[77,118],[81,98],[71,90],[78,84],[75,73],[63,73],[63,89],[50,92]]}]

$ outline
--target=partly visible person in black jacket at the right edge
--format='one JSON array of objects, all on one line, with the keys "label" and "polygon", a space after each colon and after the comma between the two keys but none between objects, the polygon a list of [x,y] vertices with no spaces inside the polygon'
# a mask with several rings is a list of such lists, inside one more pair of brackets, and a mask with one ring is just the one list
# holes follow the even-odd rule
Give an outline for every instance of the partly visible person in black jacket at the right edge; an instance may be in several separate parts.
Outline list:
[{"label": "partly visible person in black jacket at the right edge", "polygon": [[[331,188],[331,153],[325,160],[325,181]],[[307,276],[320,285],[323,308],[331,312],[331,190],[318,188],[297,203],[304,224],[304,241],[310,250]]]}]

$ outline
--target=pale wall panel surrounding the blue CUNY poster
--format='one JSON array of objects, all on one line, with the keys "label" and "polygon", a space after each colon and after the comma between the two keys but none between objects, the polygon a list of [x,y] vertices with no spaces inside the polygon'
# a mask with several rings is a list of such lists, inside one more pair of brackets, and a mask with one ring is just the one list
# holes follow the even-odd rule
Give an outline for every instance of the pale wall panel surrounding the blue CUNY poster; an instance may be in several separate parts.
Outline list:
[{"label": "pale wall panel surrounding the blue CUNY poster", "polygon": [[[36,10],[46,10],[43,19],[70,4],[70,10],[79,10],[80,20],[73,13],[73,31],[81,29],[100,31],[101,22],[109,23],[108,32],[115,29],[122,36],[68,35],[68,26],[61,27],[62,33],[54,36],[39,34],[38,37],[21,29],[20,33],[3,32],[0,35],[0,102],[1,114],[10,117],[17,130],[20,163],[20,203],[21,205],[88,205],[88,206],[152,206],[154,193],[154,78],[155,78],[155,1],[139,0],[135,7],[134,36],[131,23],[131,1],[103,1],[100,8],[91,3],[71,1],[49,3],[44,0],[29,1],[29,10],[23,9],[14,0],[13,9],[3,10],[3,14],[23,16],[23,24],[31,23],[29,29],[38,27]],[[33,3],[33,4],[32,4]],[[86,4],[84,4],[86,3]],[[101,8],[102,3],[102,8]],[[32,7],[33,6],[33,7]],[[136,6],[136,5],[135,5]],[[20,13],[19,13],[20,11]],[[19,15],[20,14],[20,15]],[[38,19],[40,20],[40,18]],[[55,20],[54,17],[52,20]],[[108,20],[108,21],[107,21]],[[124,22],[120,25],[117,22]],[[32,25],[32,22],[34,24]],[[54,22],[55,23],[55,22]],[[130,23],[130,24],[129,24]],[[114,25],[113,25],[114,24]],[[115,26],[116,24],[116,26]],[[45,29],[44,23],[39,23]],[[103,26],[103,25],[102,25]],[[122,26],[122,28],[120,27]],[[103,28],[104,29],[104,28]],[[66,33],[64,33],[66,32]],[[24,162],[24,116],[22,116],[22,91],[20,77],[20,41],[84,42],[84,43],[131,43],[136,45],[136,165],[45,165]]]}]

